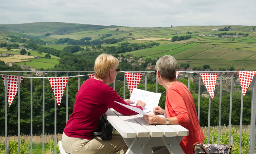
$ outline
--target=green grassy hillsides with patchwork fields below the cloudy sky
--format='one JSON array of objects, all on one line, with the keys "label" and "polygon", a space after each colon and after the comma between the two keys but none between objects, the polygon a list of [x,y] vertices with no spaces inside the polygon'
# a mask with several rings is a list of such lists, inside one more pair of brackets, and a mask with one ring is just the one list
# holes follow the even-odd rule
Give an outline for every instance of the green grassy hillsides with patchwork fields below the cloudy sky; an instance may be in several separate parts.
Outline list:
[{"label": "green grassy hillsides with patchwork fields below the cloudy sky", "polygon": [[[256,70],[256,32],[250,31],[255,26],[231,26],[233,31],[212,31],[212,29],[222,29],[224,27],[228,27],[228,25],[146,28],[98,26],[54,22],[29,24],[0,24],[0,43],[6,43],[3,38],[8,37],[4,34],[16,34],[17,36],[40,36],[41,39],[47,41],[53,41],[65,37],[73,39],[91,37],[92,40],[94,40],[100,38],[103,35],[112,34],[112,36],[104,39],[125,38],[124,41],[129,43],[160,43],[158,47],[121,53],[123,55],[133,54],[134,56],[143,56],[143,58],[157,58],[165,54],[169,54],[177,59],[179,65],[181,63],[189,63],[192,67],[202,67],[203,65],[208,64],[213,69],[228,68],[230,66],[234,66],[235,69]],[[119,28],[118,31],[116,31],[117,28]],[[24,33],[22,33],[23,31]],[[191,32],[192,34],[186,34],[187,31]],[[223,32],[237,34],[248,33],[249,36],[242,38],[218,38],[212,36],[198,36],[198,34],[208,35],[219,34]],[[44,34],[46,33],[50,33],[51,35],[44,37]],[[129,35],[129,33],[132,33],[132,35]],[[192,35],[192,38],[189,40],[176,42],[166,40],[167,38],[172,38],[173,36],[186,35]],[[135,38],[135,40],[132,40],[132,38]],[[145,38],[153,38],[153,40],[138,40]],[[154,40],[154,38],[156,39]],[[159,38],[166,39],[159,40]],[[119,45],[120,42],[116,44],[111,44],[109,46]],[[46,47],[53,47],[58,50],[62,50],[65,46]]]}]

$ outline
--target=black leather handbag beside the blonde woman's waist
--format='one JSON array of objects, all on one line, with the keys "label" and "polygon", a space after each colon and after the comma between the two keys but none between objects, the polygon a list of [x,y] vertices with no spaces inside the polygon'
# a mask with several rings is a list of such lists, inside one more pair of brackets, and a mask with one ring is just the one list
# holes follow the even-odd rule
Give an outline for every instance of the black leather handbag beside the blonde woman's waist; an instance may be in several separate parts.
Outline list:
[{"label": "black leather handbag beside the blonde woman's waist", "polygon": [[102,140],[112,139],[111,124],[104,118],[104,116],[99,118],[99,127],[97,131],[93,132],[93,137],[95,136],[99,136]]}]

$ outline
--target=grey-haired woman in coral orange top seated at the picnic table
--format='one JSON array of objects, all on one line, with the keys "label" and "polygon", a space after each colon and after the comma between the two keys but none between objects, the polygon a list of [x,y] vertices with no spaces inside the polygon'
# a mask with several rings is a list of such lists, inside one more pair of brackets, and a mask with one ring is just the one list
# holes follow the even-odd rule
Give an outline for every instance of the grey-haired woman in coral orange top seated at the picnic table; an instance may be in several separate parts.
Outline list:
[{"label": "grey-haired woman in coral orange top seated at the picnic table", "polygon": [[[177,61],[169,55],[162,56],[156,63],[154,73],[158,83],[166,90],[165,108],[160,106],[153,108],[154,114],[143,116],[149,124],[179,124],[189,130],[189,135],[184,136],[180,146],[185,154],[193,153],[193,144],[203,143],[205,138],[199,120],[195,102],[187,86],[176,81]],[[162,114],[164,117],[159,117]],[[162,148],[155,153],[169,153],[168,149]]]}]

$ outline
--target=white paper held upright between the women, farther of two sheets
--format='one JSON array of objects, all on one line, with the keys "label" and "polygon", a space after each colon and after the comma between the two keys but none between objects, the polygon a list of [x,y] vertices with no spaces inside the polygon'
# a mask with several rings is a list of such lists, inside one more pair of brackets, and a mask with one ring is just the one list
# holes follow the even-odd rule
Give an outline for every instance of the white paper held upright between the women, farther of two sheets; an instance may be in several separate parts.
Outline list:
[{"label": "white paper held upright between the women, farther of two sheets", "polygon": [[135,106],[137,104],[137,101],[142,100],[146,103],[146,106],[143,108],[144,112],[150,112],[153,111],[153,108],[158,106],[159,100],[161,97],[161,93],[153,93],[150,91],[144,91],[141,89],[133,89],[132,95],[130,97],[131,101],[134,101],[134,104],[130,104]]}]

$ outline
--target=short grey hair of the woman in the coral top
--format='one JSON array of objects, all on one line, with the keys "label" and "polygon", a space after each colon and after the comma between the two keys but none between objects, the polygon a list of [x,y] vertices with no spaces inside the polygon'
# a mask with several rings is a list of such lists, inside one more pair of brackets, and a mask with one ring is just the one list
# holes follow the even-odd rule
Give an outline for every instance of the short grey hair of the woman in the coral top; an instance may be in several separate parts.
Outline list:
[{"label": "short grey hair of the woman in the coral top", "polygon": [[156,70],[161,77],[168,81],[176,80],[177,61],[173,56],[164,55],[157,60]]}]

